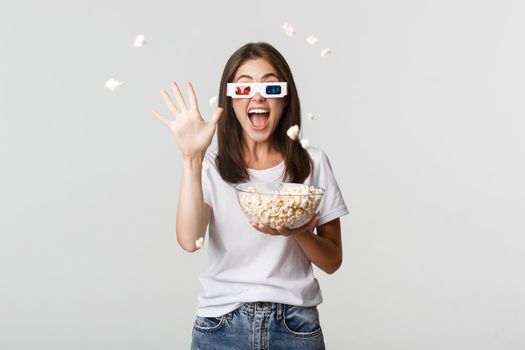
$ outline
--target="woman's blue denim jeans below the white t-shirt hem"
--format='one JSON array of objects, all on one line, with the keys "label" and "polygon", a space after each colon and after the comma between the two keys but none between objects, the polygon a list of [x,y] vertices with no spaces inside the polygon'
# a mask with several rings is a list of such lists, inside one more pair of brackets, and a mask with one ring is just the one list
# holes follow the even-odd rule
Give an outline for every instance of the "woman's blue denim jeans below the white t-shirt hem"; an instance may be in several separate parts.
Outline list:
[{"label": "woman's blue denim jeans below the white t-shirt hem", "polygon": [[324,350],[317,307],[244,303],[220,317],[197,316],[192,350]]}]

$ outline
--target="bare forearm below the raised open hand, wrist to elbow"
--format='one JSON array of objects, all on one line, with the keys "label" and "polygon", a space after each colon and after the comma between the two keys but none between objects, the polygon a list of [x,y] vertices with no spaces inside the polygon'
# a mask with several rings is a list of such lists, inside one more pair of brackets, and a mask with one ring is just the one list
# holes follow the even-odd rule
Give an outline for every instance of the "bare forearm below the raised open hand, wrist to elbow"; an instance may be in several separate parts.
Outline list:
[{"label": "bare forearm below the raised open hand, wrist to elbow", "polygon": [[204,237],[211,208],[204,203],[201,183],[202,156],[185,157],[177,208],[177,242],[188,252],[197,250],[195,241]]}]

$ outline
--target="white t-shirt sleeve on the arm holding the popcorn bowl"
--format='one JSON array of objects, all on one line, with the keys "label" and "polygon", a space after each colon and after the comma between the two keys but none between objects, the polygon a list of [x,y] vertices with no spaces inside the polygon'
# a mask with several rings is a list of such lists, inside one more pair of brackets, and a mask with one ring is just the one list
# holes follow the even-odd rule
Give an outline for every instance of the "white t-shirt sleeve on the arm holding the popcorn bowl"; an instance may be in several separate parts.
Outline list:
[{"label": "white t-shirt sleeve on the arm holding the popcorn bowl", "polygon": [[332,171],[332,166],[330,165],[328,156],[322,151],[317,183],[319,187],[325,189],[323,199],[321,200],[318,209],[320,215],[319,222],[317,223],[318,226],[324,225],[327,222],[349,213],[343,199],[343,194],[339,189],[339,185],[337,184]]}]

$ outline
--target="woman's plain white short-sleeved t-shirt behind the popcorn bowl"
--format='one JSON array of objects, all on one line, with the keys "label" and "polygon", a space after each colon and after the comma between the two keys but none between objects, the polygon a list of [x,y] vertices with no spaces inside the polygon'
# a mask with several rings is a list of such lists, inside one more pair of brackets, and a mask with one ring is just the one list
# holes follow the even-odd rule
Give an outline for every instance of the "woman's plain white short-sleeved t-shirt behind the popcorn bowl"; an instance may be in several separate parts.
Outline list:
[{"label": "woman's plain white short-sleeved t-shirt behind the popcorn bowl", "polygon": [[[318,226],[348,214],[326,154],[307,148],[314,163],[304,184],[324,188]],[[237,200],[234,184],[225,182],[216,166],[216,148],[206,151],[202,169],[204,202],[212,209],[208,227],[209,268],[199,276],[203,291],[197,315],[219,317],[245,302],[266,301],[315,306],[323,298],[312,263],[293,238],[254,229]],[[284,161],[273,168],[248,169],[251,181],[281,182]]]}]

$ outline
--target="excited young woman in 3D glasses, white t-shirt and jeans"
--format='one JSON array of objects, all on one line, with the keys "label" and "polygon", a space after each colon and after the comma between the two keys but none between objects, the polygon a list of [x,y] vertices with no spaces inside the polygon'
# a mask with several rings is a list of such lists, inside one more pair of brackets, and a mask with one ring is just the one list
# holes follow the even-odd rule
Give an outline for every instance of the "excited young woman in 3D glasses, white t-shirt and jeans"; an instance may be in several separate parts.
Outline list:
[{"label": "excited young woman in 3D glasses, white t-shirt and jeans", "polygon": [[[175,120],[153,114],[183,155],[177,240],[193,252],[209,233],[192,349],[324,349],[312,263],[329,274],[339,268],[339,218],[348,210],[326,154],[287,136],[301,126],[301,111],[286,60],[264,42],[239,48],[223,71],[222,108],[209,121],[190,83],[189,105],[175,82],[172,88],[174,101],[166,90],[161,95]],[[218,147],[209,149],[216,129]],[[303,183],[325,194],[306,225],[273,229],[242,212],[233,185],[250,181]]]}]

